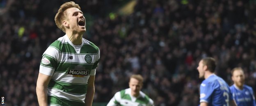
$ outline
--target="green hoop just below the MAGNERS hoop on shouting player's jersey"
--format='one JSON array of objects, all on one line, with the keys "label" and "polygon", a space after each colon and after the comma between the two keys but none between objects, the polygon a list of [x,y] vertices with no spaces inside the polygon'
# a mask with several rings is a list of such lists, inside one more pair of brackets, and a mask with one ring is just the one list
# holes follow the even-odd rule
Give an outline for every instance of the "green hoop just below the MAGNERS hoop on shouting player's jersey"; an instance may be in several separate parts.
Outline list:
[{"label": "green hoop just below the MAGNERS hoop on shouting player's jersey", "polygon": [[77,95],[86,94],[87,92],[87,85],[59,82],[53,79],[50,80],[48,88],[59,89],[60,91]]}]

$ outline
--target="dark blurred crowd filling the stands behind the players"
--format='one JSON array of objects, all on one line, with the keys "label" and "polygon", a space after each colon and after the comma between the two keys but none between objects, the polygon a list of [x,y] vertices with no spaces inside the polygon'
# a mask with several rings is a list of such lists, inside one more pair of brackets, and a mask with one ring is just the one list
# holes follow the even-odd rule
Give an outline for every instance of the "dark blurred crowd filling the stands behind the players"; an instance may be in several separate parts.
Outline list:
[{"label": "dark blurred crowd filling the stands behind the players", "polygon": [[[0,96],[10,106],[37,106],[41,55],[63,36],[54,22],[68,0],[0,0]],[[156,106],[197,106],[197,66],[217,60],[216,74],[232,85],[240,66],[256,91],[256,0],[136,0],[130,15],[112,14],[129,0],[74,0],[87,20],[84,38],[101,50],[94,103],[128,88],[132,74]]]}]

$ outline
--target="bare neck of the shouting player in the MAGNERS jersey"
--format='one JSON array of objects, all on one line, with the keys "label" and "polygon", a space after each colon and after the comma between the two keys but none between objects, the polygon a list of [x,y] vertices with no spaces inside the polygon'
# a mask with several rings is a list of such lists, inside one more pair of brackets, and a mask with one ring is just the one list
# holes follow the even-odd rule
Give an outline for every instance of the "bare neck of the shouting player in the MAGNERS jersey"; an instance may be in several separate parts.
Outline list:
[{"label": "bare neck of the shouting player in the MAGNERS jersey", "polygon": [[82,34],[66,32],[66,35],[74,45],[82,44]]}]

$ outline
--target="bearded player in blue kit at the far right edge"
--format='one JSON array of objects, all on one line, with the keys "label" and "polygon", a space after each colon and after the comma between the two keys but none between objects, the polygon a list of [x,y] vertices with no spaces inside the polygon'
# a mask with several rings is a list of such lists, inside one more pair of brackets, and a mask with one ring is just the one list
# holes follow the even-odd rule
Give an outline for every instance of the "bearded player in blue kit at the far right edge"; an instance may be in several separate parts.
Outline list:
[{"label": "bearded player in blue kit at the far right edge", "polygon": [[233,99],[238,106],[256,106],[253,90],[245,85],[245,74],[242,68],[233,68],[231,71],[234,84],[230,86]]}]

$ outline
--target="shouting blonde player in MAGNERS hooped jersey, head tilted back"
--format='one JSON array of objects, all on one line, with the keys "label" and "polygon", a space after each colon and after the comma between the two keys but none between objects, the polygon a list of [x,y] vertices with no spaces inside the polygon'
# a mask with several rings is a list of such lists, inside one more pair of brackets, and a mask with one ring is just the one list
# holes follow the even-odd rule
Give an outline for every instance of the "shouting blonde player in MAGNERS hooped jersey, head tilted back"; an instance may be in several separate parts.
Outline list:
[{"label": "shouting blonde player in MAGNERS hooped jersey, head tilted back", "polygon": [[66,35],[43,53],[36,89],[39,105],[91,106],[100,50],[82,38],[86,22],[75,2],[62,4],[55,23]]}]

